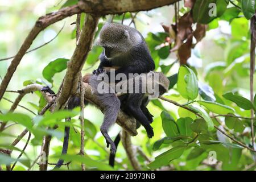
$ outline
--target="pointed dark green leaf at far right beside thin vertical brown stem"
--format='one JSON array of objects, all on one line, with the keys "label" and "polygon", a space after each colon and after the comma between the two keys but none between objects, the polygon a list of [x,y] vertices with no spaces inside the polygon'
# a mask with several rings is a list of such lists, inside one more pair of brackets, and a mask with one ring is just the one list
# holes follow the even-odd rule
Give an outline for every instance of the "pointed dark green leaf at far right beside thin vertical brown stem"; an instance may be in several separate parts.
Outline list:
[{"label": "pointed dark green leaf at far right beside thin vertical brown stem", "polygon": [[251,101],[247,100],[247,98],[244,98],[244,97],[238,96],[238,95],[234,95],[232,92],[226,93],[222,96],[224,98],[226,98],[227,100],[230,100],[230,101],[236,103],[236,105],[238,107],[241,107],[242,109],[245,109],[245,110],[254,109],[253,104],[251,103]]}]

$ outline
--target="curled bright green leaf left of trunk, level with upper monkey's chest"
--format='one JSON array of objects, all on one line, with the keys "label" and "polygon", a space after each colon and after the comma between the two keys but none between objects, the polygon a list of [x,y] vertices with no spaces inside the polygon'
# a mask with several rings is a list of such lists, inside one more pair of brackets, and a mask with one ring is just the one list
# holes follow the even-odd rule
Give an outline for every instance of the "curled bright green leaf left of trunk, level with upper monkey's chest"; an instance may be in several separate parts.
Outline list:
[{"label": "curled bright green leaf left of trunk, level with upper monkey's chest", "polygon": [[53,82],[52,77],[55,73],[60,73],[64,69],[67,68],[67,62],[69,59],[59,58],[54,61],[51,61],[44,69],[43,69],[43,77],[46,78],[47,81]]}]

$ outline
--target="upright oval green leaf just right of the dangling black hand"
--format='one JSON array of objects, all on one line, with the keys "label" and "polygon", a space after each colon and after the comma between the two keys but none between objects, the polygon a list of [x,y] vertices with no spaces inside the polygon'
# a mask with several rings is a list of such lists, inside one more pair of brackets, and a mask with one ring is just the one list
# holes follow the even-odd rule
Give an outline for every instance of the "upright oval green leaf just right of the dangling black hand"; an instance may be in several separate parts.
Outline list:
[{"label": "upright oval green leaf just right of the dangling black hand", "polygon": [[167,113],[167,111],[162,111],[161,118],[163,130],[167,137],[176,137],[180,135],[179,130],[177,129],[177,123],[175,122],[174,118]]}]

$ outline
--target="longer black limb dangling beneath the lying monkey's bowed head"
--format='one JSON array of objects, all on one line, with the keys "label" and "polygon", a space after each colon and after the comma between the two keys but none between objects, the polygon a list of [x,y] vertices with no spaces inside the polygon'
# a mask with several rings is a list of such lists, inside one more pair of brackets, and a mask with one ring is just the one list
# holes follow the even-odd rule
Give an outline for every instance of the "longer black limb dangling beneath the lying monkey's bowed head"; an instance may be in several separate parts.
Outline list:
[{"label": "longer black limb dangling beneath the lying monkey's bowed head", "polygon": [[142,100],[143,95],[144,94],[129,94],[126,107],[130,115],[137,119],[137,121],[139,121],[146,129],[147,137],[152,138],[154,136],[153,128],[150,126],[150,122],[148,122],[147,117],[141,110],[141,102],[138,103],[139,100]]}]

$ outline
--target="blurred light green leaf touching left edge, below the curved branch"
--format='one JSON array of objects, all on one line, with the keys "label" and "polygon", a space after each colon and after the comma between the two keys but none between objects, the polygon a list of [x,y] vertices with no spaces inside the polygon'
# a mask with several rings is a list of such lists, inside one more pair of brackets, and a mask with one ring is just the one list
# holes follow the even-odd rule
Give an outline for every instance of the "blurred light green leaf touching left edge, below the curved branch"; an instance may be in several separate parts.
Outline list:
[{"label": "blurred light green leaf touching left edge, below the curved branch", "polygon": [[25,126],[28,130],[32,129],[32,119],[26,114],[20,113],[6,113],[0,114],[0,121],[14,121]]}]

